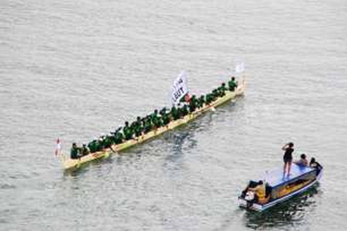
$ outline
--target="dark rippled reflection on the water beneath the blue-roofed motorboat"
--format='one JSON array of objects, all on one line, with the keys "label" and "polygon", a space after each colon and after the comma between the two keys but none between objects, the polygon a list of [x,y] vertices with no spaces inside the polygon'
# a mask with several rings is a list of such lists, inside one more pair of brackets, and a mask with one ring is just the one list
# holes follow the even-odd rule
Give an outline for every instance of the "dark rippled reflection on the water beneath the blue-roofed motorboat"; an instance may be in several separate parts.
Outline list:
[{"label": "dark rippled reflection on the water beneath the blue-roofed motorboat", "polygon": [[262,213],[247,211],[244,215],[245,226],[253,229],[266,229],[301,224],[305,220],[306,213],[315,209],[315,196],[319,193],[319,184],[316,184],[305,193]]}]

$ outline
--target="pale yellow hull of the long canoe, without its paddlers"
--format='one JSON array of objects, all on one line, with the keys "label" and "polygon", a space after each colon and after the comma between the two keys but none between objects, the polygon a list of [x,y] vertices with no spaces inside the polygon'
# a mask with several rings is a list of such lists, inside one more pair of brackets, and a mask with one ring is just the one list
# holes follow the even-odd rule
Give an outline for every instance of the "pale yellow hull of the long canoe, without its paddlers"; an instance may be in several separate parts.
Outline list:
[{"label": "pale yellow hull of the long canoe, without its paddlers", "polygon": [[127,148],[130,148],[136,144],[142,143],[144,141],[147,141],[149,139],[152,139],[153,137],[156,137],[164,132],[167,132],[169,130],[172,130],[180,125],[186,124],[189,121],[195,119],[196,117],[200,116],[201,114],[207,112],[211,108],[218,107],[219,105],[227,102],[230,99],[233,99],[237,96],[240,96],[245,91],[245,80],[242,81],[241,84],[235,89],[235,91],[226,91],[226,95],[223,97],[218,97],[216,100],[214,100],[211,104],[205,105],[204,107],[195,110],[193,113],[190,113],[183,118],[176,119],[174,121],[171,121],[168,125],[162,126],[160,128],[157,128],[155,130],[152,130],[146,134],[143,134],[139,137],[136,137],[134,139],[125,141],[121,144],[113,144],[111,148],[105,149],[104,151],[94,152],[90,153],[86,156],[83,156],[79,159],[70,159],[64,156],[62,154],[62,162],[64,169],[72,169],[72,168],[79,168],[82,164],[96,160],[101,158],[107,158],[110,155],[110,152],[119,152],[122,150],[125,150]]}]

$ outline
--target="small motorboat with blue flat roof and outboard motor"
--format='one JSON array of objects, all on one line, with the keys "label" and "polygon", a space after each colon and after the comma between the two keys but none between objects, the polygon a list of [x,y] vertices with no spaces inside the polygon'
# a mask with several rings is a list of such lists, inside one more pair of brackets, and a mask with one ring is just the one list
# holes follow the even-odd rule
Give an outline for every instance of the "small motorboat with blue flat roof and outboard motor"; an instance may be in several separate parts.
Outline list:
[{"label": "small motorboat with blue flat roof and outboard motor", "polygon": [[[283,176],[283,169],[266,172],[261,178],[265,182],[265,196],[255,198],[249,188],[255,188],[257,181],[250,181],[246,189],[239,196],[240,207],[255,211],[264,211],[280,202],[301,194],[316,184],[322,177],[323,167],[311,168],[300,166],[295,163],[291,165],[290,175]],[[259,181],[260,182],[260,181]]]}]

